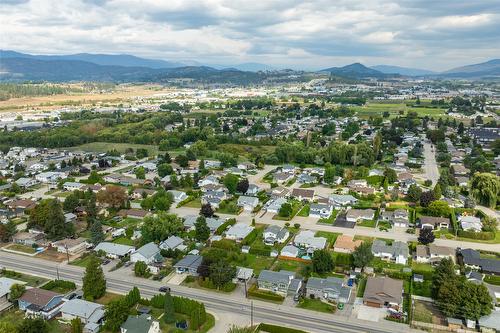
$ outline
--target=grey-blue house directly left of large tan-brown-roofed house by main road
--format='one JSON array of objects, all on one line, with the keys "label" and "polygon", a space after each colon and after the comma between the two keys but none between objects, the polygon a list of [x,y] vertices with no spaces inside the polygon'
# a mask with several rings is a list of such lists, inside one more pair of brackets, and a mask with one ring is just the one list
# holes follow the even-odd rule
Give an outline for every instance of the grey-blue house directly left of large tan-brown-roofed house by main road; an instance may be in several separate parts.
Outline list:
[{"label": "grey-blue house directly left of large tan-brown-roofed house by main road", "polygon": [[306,295],[327,302],[347,303],[351,296],[351,288],[346,286],[341,278],[310,277],[306,284]]}]

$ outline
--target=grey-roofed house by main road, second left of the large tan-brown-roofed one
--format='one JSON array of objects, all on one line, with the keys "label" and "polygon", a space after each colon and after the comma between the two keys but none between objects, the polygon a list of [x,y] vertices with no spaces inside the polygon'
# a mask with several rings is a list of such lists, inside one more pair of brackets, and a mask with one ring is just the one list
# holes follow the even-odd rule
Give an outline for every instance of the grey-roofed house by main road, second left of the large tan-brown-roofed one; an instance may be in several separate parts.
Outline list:
[{"label": "grey-roofed house by main road, second left of the large tan-brown-roofed one", "polygon": [[262,270],[257,278],[259,289],[286,296],[296,294],[302,286],[302,280],[295,277],[294,272]]}]

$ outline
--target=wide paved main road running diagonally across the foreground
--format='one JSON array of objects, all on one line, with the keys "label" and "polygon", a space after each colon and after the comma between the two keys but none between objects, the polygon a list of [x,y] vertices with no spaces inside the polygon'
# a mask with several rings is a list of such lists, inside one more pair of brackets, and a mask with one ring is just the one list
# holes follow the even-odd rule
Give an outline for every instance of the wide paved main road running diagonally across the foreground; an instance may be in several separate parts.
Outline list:
[{"label": "wide paved main road running diagonally across the foreground", "polygon": [[[25,257],[2,252],[0,266],[23,273],[47,278],[56,278],[81,283],[84,269],[67,264],[57,264],[38,258]],[[120,294],[127,293],[133,286],[137,286],[145,297],[152,297],[158,293],[162,283],[152,280],[123,276],[119,271],[107,272],[107,289]],[[261,301],[250,301],[232,295],[221,295],[205,290],[169,285],[174,295],[185,296],[205,303],[207,310],[216,316],[234,314],[237,319],[234,324],[248,325],[250,312],[253,305],[254,323],[268,322],[281,326],[291,326],[305,329],[309,332],[335,332],[335,333],[385,333],[385,332],[417,332],[407,325],[381,321],[374,325],[366,322],[339,315],[327,315],[314,311],[297,309],[285,305],[270,304]],[[247,317],[248,321],[240,322]]]}]

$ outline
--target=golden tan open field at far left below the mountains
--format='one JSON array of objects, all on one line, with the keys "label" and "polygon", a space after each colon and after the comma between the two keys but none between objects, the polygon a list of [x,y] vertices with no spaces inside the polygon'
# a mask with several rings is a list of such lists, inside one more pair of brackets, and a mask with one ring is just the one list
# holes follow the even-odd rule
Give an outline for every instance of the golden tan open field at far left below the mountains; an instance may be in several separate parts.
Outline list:
[{"label": "golden tan open field at far left below the mountains", "polygon": [[157,85],[120,85],[115,87],[113,91],[105,93],[71,93],[11,98],[6,101],[0,101],[0,111],[43,111],[56,109],[61,106],[91,106],[101,102],[120,103],[135,97],[148,97],[167,91]]}]

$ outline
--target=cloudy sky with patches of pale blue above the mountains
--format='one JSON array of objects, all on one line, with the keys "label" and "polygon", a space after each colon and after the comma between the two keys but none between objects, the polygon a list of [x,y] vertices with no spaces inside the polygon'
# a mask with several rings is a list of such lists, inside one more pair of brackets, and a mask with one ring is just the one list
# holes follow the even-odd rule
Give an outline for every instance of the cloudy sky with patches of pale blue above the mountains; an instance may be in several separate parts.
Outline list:
[{"label": "cloudy sky with patches of pale blue above the mountains", "polygon": [[500,1],[0,0],[0,48],[440,71],[500,58]]}]

